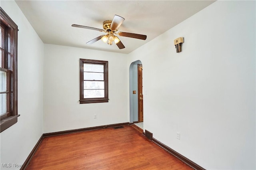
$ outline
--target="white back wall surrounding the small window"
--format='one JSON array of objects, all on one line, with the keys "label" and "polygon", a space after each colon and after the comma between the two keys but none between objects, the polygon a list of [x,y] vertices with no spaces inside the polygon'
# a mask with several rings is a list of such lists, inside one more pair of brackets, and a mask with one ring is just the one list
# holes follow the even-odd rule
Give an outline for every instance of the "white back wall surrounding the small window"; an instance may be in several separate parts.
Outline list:
[{"label": "white back wall surrounding the small window", "polygon": [[[79,104],[80,58],[108,61],[108,103]],[[126,64],[126,54],[45,44],[44,133],[129,122]]]}]

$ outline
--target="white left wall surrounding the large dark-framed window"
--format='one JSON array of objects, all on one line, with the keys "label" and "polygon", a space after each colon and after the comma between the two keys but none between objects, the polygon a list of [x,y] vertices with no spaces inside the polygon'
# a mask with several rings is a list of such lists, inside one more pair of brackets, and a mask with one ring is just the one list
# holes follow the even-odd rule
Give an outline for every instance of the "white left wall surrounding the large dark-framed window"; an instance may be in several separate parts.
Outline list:
[{"label": "white left wall surrounding the large dark-framed window", "polygon": [[[43,133],[44,44],[14,1],[2,9],[18,25],[18,123],[0,133],[1,165],[23,164]],[[1,166],[0,165],[0,166]],[[4,169],[1,167],[1,169]],[[20,168],[6,168],[20,169]]]}]

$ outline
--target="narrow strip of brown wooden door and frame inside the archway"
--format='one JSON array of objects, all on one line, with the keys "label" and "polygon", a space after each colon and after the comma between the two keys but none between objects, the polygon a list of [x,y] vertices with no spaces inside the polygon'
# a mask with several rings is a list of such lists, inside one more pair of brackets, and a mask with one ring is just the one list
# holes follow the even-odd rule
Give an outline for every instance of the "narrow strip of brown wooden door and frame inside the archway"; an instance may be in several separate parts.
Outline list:
[{"label": "narrow strip of brown wooden door and frame inside the archway", "polygon": [[143,122],[142,64],[138,64],[138,122]]}]

